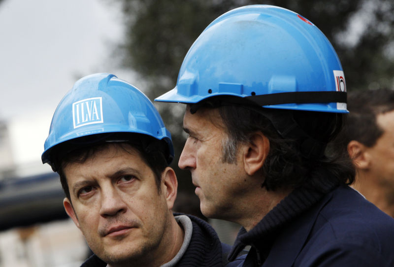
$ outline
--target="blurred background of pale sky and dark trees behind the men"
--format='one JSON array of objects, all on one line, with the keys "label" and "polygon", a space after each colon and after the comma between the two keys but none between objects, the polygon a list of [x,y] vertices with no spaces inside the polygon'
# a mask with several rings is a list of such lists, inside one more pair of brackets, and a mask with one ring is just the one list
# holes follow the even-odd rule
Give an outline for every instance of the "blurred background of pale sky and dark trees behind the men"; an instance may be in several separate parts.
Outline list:
[{"label": "blurred background of pale sky and dark trees behind the men", "polygon": [[[53,112],[74,82],[111,72],[151,100],[172,89],[199,33],[246,4],[289,8],[326,34],[348,91],[394,87],[393,0],[0,0],[0,267],[79,266],[89,255],[67,219],[58,176],[40,156]],[[175,144],[175,211],[199,213],[177,167],[184,106],[156,103]],[[237,225],[209,220],[232,244]]]}]

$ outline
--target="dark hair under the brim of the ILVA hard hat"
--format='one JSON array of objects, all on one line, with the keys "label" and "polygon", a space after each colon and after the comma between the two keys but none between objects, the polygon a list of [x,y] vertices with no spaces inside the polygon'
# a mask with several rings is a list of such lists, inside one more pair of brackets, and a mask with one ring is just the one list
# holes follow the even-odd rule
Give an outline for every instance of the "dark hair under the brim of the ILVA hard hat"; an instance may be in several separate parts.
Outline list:
[{"label": "dark hair under the brim of the ILVA hard hat", "polygon": [[161,176],[168,166],[164,156],[166,155],[165,149],[167,149],[164,141],[143,134],[95,134],[64,142],[55,146],[54,150],[51,151],[51,165],[59,173],[66,197],[71,200],[64,167],[70,163],[84,163],[109,145],[117,145],[120,149],[130,153],[126,144],[134,148],[142,160],[152,169],[160,192]]}]

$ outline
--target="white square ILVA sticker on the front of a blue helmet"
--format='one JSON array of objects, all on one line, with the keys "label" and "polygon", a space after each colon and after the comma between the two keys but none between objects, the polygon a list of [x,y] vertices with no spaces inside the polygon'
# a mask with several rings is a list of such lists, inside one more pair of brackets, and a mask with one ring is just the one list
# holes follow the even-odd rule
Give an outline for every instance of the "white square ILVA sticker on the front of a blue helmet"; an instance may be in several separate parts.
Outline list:
[{"label": "white square ILVA sticker on the front of a blue helmet", "polygon": [[72,103],[74,129],[95,123],[103,123],[102,98],[89,98]]}]

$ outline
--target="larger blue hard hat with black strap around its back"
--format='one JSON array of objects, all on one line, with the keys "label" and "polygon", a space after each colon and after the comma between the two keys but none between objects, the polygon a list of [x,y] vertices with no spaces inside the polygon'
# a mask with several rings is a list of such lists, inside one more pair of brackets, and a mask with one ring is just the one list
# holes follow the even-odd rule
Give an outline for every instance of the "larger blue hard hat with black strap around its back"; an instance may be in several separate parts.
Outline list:
[{"label": "larger blue hard hat with black strap around its back", "polygon": [[348,113],[343,69],[327,37],[301,15],[271,5],[236,8],[209,24],[175,88],[155,100],[222,96],[265,108]]}]

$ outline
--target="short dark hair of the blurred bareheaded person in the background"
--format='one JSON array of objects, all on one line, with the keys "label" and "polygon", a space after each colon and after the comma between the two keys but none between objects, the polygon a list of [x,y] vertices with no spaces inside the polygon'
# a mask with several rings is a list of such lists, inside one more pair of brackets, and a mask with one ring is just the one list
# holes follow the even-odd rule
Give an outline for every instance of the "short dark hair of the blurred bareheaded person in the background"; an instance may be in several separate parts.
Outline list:
[{"label": "short dark hair of the blurred bareheaded person in the background", "polygon": [[348,92],[348,110],[348,123],[335,138],[335,146],[344,153],[347,153],[351,140],[372,147],[383,134],[376,116],[394,110],[394,90],[383,88]]}]

